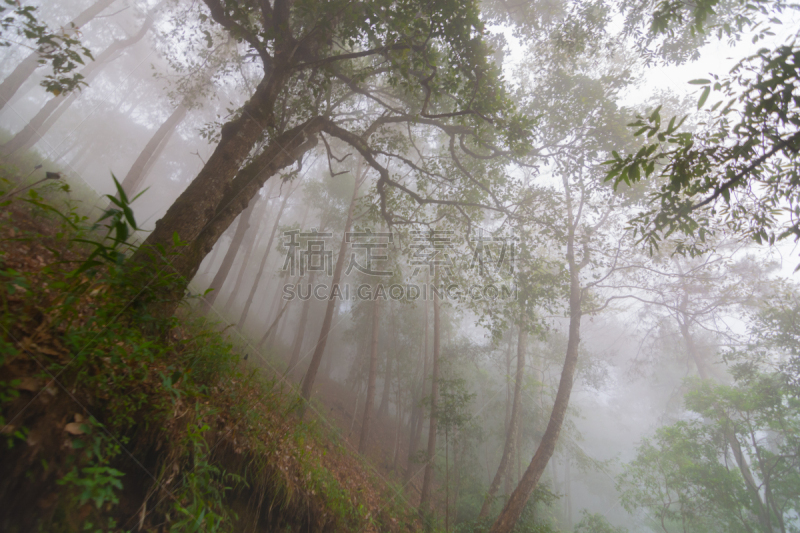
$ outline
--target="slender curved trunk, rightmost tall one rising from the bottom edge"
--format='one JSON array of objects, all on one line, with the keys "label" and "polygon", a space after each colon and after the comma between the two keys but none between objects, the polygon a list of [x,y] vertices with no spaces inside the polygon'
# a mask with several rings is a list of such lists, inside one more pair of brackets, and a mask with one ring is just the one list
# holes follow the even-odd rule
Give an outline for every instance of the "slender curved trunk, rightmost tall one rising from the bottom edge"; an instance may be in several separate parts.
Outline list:
[{"label": "slender curved trunk, rightmost tall one rising from the bottom edge", "polygon": [[530,465],[522,475],[517,488],[511,494],[505,507],[495,520],[490,533],[508,533],[519,520],[525,504],[528,502],[531,493],[539,483],[539,479],[547,467],[547,462],[553,455],[558,436],[561,433],[561,426],[567,414],[569,397],[572,393],[572,384],[575,378],[575,367],[578,363],[578,346],[580,344],[580,325],[581,325],[581,286],[579,267],[574,260],[574,231],[570,231],[570,238],[567,243],[567,257],[570,264],[570,297],[569,297],[569,336],[567,340],[567,354],[564,360],[564,368],[561,371],[561,380],[556,392],[556,400],[553,411],[550,413],[550,421],[547,429],[542,436],[539,448],[531,460]]}]

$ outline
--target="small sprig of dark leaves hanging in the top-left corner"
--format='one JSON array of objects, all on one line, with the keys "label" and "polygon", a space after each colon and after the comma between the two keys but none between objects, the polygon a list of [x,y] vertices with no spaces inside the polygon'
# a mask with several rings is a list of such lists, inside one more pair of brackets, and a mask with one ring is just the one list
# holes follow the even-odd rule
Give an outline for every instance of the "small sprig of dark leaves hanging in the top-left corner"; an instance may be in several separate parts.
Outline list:
[{"label": "small sprig of dark leaves hanging in the top-left corner", "polygon": [[[55,96],[85,86],[83,76],[75,70],[84,64],[84,59],[94,60],[91,51],[83,46],[74,27],[52,30],[38,18],[37,8],[23,6],[15,0],[4,0],[0,4],[0,47],[19,44],[16,39],[32,43],[39,56],[39,63],[50,65],[40,85]],[[9,37],[12,33],[14,37]]]}]

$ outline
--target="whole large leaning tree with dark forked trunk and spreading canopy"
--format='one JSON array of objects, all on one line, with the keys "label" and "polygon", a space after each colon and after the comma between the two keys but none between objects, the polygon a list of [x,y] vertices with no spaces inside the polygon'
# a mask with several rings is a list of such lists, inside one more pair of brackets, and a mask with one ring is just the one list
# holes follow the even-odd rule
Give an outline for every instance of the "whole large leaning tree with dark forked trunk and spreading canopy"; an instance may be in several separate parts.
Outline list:
[{"label": "whole large leaning tree with dark forked trunk and spreading canopy", "polygon": [[491,61],[477,2],[205,4],[208,23],[247,47],[263,78],[133,258],[177,280],[156,294],[159,314],[174,311],[264,182],[318,145],[333,175],[354,152],[377,171],[374,193],[389,223],[403,202],[507,207],[491,181],[508,178],[465,163],[522,153],[529,140]]}]

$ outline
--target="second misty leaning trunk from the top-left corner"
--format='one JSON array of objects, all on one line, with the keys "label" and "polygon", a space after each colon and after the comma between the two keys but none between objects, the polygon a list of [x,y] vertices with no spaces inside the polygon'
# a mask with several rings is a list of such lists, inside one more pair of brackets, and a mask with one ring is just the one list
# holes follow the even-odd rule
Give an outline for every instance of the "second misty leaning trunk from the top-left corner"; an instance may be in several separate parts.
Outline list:
[{"label": "second misty leaning trunk from the top-left corner", "polygon": [[[115,41],[108,46],[97,58],[81,69],[81,75],[84,77],[85,82],[91,81],[107,64],[111,58],[120,50],[124,50],[142,40],[142,38],[150,30],[154,22],[153,17],[147,17],[144,24],[133,37]],[[69,105],[75,101],[77,94],[54,96],[39,110],[38,113],[25,125],[22,130],[17,133],[10,141],[0,147],[0,155],[5,157],[13,154],[18,150],[27,150],[36,144],[49,129],[49,126],[55,124],[55,119],[49,122],[49,126],[45,128],[45,121],[58,109],[57,113],[63,114]],[[57,117],[55,117],[57,118]]]}]

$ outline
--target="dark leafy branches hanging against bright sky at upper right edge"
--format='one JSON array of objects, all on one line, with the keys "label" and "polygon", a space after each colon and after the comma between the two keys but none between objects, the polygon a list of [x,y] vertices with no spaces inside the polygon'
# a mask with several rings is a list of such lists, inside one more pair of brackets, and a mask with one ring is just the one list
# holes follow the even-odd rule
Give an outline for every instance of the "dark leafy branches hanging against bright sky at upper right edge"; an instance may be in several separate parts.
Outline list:
[{"label": "dark leafy branches hanging against bright sky at upper right edge", "polygon": [[[704,18],[698,15],[697,24]],[[635,154],[614,152],[607,181],[616,188],[653,180],[652,208],[633,220],[651,251],[678,232],[691,236],[679,253],[701,253],[713,221],[759,244],[800,238],[798,65],[800,48],[792,40],[759,50],[725,77],[692,80],[701,87],[698,110],[719,97],[695,132],[681,130],[687,117],[672,117],[664,127],[660,107],[630,124],[644,144]]]}]

